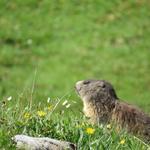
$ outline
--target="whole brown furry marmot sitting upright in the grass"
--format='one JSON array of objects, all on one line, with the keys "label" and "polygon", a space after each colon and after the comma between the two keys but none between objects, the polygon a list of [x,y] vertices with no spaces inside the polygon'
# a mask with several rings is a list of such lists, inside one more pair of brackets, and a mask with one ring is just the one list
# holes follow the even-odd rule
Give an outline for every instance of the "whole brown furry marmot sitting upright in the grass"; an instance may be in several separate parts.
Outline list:
[{"label": "whole brown furry marmot sitting upright in the grass", "polygon": [[140,109],[119,101],[113,86],[105,80],[84,80],[76,83],[83,101],[83,112],[91,123],[115,123],[119,129],[140,135],[150,141],[150,116]]}]

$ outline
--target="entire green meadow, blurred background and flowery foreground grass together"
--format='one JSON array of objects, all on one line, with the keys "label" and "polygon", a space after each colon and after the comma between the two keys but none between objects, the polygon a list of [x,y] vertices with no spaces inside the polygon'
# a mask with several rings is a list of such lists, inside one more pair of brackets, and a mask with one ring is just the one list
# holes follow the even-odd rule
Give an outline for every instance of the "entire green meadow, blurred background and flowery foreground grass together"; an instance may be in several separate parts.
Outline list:
[{"label": "entire green meadow, blurred background and flowery foreground grass together", "polygon": [[149,10],[147,0],[1,0],[0,149],[15,149],[16,134],[81,150],[148,149],[125,132],[89,125],[74,85],[108,80],[121,100],[150,113]]}]

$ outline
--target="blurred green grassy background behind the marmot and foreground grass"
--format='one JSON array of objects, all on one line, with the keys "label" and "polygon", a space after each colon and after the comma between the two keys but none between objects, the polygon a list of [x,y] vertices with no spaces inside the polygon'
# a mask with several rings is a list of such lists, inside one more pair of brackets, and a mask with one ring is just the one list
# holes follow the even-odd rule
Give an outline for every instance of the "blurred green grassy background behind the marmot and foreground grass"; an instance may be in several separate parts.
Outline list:
[{"label": "blurred green grassy background behind the marmot and foreground grass", "polygon": [[94,78],[150,112],[149,10],[148,0],[1,0],[0,99],[26,103],[35,83],[34,103],[80,102],[70,90]]}]

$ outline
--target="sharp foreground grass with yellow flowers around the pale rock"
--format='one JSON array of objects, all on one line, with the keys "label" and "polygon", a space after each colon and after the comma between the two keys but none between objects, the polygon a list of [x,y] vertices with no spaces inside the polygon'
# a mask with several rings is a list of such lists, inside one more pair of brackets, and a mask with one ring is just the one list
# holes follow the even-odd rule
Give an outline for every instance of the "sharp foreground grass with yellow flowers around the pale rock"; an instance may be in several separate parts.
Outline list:
[{"label": "sharp foreground grass with yellow flowers around the pale rock", "polygon": [[[71,111],[72,105],[66,108],[67,104],[63,105],[63,102],[64,99],[51,100],[45,103],[44,107],[39,104],[34,109],[30,106],[23,109],[19,101],[15,107],[11,107],[12,101],[3,103],[0,120],[0,147],[15,149],[15,144],[10,139],[16,134],[70,141],[75,143],[79,150],[146,150],[149,147],[125,131],[117,131],[111,125],[88,124],[86,118],[81,114],[79,117],[75,115],[75,111]],[[59,105],[62,106],[61,111],[56,109]]]}]

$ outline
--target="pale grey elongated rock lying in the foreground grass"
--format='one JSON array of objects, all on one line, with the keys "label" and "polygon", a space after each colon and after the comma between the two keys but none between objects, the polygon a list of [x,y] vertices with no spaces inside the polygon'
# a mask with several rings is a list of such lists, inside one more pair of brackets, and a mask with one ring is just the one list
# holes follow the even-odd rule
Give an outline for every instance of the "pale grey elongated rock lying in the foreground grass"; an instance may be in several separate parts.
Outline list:
[{"label": "pale grey elongated rock lying in the foreground grass", "polygon": [[48,137],[16,135],[12,138],[18,150],[76,150],[76,145]]}]

